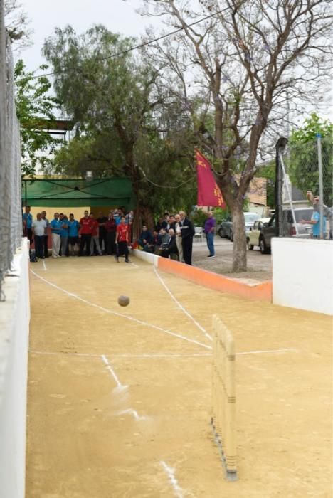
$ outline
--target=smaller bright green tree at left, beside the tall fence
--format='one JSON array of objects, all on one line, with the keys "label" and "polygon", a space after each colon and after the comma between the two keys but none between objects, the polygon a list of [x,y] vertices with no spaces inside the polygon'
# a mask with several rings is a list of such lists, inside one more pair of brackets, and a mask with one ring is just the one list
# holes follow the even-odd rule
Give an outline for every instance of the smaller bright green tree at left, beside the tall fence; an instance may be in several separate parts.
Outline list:
[{"label": "smaller bright green tree at left, beside the tall fence", "polygon": [[[45,70],[41,65],[40,70]],[[52,161],[58,140],[46,131],[55,120],[58,100],[50,95],[51,83],[45,76],[34,78],[18,60],[14,72],[16,112],[21,127],[21,171],[33,176]]]}]

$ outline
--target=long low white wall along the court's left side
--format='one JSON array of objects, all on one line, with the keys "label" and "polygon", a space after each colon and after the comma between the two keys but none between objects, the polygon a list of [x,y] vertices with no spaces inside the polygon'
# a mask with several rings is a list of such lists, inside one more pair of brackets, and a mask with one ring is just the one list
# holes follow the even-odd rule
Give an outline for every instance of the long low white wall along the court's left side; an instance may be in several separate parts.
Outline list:
[{"label": "long low white wall along the court's left side", "polygon": [[28,243],[14,257],[0,302],[0,497],[23,498],[30,301]]}]

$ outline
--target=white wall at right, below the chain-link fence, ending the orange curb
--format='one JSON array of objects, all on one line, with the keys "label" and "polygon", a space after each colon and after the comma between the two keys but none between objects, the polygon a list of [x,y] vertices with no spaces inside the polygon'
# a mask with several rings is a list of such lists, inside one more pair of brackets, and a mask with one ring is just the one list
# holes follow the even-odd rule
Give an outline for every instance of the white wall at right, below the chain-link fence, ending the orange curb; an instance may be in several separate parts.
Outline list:
[{"label": "white wall at right, below the chain-link fence, ending the orange curb", "polygon": [[273,238],[273,303],[333,315],[333,241]]}]

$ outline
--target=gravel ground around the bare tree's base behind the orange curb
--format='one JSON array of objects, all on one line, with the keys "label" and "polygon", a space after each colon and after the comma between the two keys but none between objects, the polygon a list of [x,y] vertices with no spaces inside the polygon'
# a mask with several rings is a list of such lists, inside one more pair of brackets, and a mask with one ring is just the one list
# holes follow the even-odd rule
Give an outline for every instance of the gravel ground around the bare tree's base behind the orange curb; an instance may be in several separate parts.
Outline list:
[{"label": "gravel ground around the bare tree's base behind the orange curb", "polygon": [[239,280],[258,280],[260,282],[272,280],[271,256],[270,254],[261,254],[258,248],[247,251],[248,271],[241,273],[232,272],[233,243],[230,240],[216,235],[215,253],[215,258],[207,258],[206,240],[203,242],[196,240],[193,244],[192,263],[205,270]]}]

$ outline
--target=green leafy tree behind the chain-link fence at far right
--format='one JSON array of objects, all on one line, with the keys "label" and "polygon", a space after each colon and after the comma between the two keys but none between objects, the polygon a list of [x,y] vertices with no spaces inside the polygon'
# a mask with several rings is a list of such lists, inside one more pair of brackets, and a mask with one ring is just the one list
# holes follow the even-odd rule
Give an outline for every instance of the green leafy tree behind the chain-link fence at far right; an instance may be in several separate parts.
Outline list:
[{"label": "green leafy tree behind the chain-link fence at far right", "polygon": [[333,202],[333,124],[322,120],[313,113],[303,126],[292,131],[290,137],[290,164],[288,172],[293,185],[303,194],[311,190],[319,194],[319,171],[317,134],[322,137],[322,176],[324,186],[324,203],[332,206]]}]

